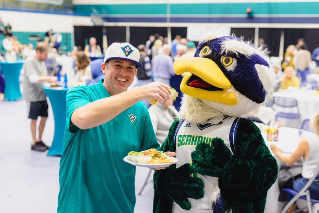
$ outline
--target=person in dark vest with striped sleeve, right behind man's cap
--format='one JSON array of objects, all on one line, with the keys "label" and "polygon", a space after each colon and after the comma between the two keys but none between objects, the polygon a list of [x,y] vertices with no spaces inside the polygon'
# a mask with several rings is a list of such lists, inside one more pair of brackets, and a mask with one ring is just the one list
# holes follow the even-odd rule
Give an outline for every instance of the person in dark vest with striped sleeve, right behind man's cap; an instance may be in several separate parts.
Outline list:
[{"label": "person in dark vest with striped sleeve, right behind man's cap", "polygon": [[[143,65],[143,67],[138,69],[138,72],[136,74],[137,77],[137,84],[135,86],[142,86],[145,84],[148,84],[150,82],[152,82],[151,80],[151,62],[150,62],[150,58],[146,55],[146,51],[145,51],[145,45],[144,44],[140,44],[137,46],[138,51],[140,52],[140,59],[139,59],[139,63],[141,63]],[[149,101],[142,101],[145,106],[148,108],[150,106],[150,102]]]}]

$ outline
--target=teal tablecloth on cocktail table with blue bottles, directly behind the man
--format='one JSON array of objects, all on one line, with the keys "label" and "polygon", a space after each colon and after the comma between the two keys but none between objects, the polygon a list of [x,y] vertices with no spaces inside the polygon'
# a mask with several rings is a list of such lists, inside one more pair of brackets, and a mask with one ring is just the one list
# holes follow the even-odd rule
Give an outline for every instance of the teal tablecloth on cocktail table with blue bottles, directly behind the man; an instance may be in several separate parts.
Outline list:
[{"label": "teal tablecloth on cocktail table with blue bottles, directly behind the man", "polygon": [[66,93],[70,88],[43,87],[48,96],[54,117],[54,137],[47,156],[61,156],[66,114]]}]

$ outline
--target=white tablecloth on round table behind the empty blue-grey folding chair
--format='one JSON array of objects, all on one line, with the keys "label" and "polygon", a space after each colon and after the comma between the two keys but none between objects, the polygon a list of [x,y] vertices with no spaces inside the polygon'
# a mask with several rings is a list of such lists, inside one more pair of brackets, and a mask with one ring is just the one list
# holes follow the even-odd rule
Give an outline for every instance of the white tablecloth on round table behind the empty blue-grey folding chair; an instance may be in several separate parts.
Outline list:
[{"label": "white tablecloth on round table behind the empty blue-grey folding chair", "polygon": [[[315,111],[319,110],[319,95],[315,95],[315,90],[306,89],[294,89],[291,92],[281,91],[275,92],[273,97],[286,97],[294,98],[298,101],[298,108],[301,117],[301,122],[304,119],[310,119]],[[294,108],[282,108],[274,105],[276,112],[284,111],[296,113]],[[278,118],[278,120],[283,124],[283,126],[300,128],[301,122],[294,119]]]}]

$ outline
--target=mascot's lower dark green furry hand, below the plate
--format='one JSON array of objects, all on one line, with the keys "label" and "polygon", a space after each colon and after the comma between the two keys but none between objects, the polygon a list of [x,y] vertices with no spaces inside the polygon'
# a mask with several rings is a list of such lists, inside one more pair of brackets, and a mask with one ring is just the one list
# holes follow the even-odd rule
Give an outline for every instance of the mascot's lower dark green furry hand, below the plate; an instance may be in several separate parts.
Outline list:
[{"label": "mascot's lower dark green furry hand, below the plate", "polygon": [[190,164],[184,164],[177,169],[169,167],[164,171],[155,171],[154,189],[159,196],[167,196],[182,209],[189,210],[191,206],[188,197],[204,197],[204,182],[200,178],[190,177],[193,172]]}]

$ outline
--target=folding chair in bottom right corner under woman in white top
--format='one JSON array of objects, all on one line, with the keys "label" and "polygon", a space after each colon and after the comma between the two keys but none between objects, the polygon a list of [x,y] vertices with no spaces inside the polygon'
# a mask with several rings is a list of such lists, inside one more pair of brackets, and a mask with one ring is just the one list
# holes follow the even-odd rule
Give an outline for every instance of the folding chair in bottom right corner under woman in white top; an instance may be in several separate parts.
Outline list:
[{"label": "folding chair in bottom right corner under woman in white top", "polygon": [[[307,207],[302,208],[302,209],[308,208],[308,212],[312,213],[312,210],[311,210],[312,204],[319,203],[319,200],[314,200],[314,199],[310,198],[310,192],[309,192],[308,188],[312,184],[312,182],[314,182],[314,180],[316,178],[317,179],[319,178],[318,172],[319,172],[319,167],[316,169],[314,176],[308,180],[307,184],[299,192],[296,192],[293,189],[289,189],[289,188],[283,188],[282,189],[283,191],[285,191],[285,192],[287,192],[289,194],[292,194],[294,197],[293,197],[293,199],[291,199],[287,203],[287,205],[281,211],[281,213],[286,213],[287,210],[289,209],[289,207],[298,199],[302,199],[302,200],[307,201]],[[298,209],[296,211],[300,211],[300,209]],[[296,212],[296,211],[293,211],[293,212]],[[293,212],[291,212],[291,213],[293,213]]]}]

